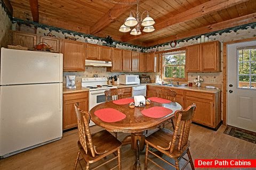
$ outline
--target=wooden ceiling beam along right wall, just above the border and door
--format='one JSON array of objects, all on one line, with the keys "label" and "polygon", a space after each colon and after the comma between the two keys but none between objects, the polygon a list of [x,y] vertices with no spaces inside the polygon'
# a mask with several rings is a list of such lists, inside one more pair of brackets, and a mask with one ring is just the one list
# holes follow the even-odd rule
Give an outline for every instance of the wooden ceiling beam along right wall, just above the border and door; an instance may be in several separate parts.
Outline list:
[{"label": "wooden ceiling beam along right wall, just above the border and door", "polygon": [[151,41],[151,42],[147,43],[147,46],[150,47],[150,46],[170,42],[170,41],[173,41],[173,40],[198,36],[198,35],[202,35],[204,33],[219,31],[219,30],[232,28],[232,27],[236,27],[236,26],[239,26],[239,25],[244,25],[244,24],[247,24],[247,23],[253,23],[253,22],[256,22],[256,13],[241,16],[241,17],[231,19],[231,20],[228,20],[228,21],[223,21],[223,22],[207,25],[206,27],[197,28],[197,29],[190,30],[190,31],[187,31],[187,32],[184,32],[184,33],[180,33],[180,34],[177,34],[177,35],[174,35],[174,36],[170,36],[170,37],[167,37],[167,38],[164,38],[164,39],[160,39],[160,40],[157,40],[157,41]]}]

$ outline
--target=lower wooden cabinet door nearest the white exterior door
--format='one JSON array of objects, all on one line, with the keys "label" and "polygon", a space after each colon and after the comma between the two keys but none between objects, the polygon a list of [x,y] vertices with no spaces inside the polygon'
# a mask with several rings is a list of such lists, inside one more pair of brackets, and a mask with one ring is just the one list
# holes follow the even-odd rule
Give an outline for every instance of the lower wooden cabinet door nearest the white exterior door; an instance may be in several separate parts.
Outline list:
[{"label": "lower wooden cabinet door nearest the white exterior door", "polygon": [[196,104],[196,112],[192,121],[213,127],[213,102],[211,100],[185,97],[185,108],[192,103]]}]

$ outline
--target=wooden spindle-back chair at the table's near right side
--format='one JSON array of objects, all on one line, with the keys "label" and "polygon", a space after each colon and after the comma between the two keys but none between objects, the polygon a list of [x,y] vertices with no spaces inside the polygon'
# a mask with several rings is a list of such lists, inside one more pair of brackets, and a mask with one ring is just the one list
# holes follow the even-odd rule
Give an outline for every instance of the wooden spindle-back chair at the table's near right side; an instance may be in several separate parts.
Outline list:
[{"label": "wooden spindle-back chair at the table's near right side", "polygon": [[[181,158],[183,158],[187,161],[185,166],[187,166],[187,164],[190,163],[191,168],[195,169],[193,160],[191,158],[190,151],[189,151],[190,143],[188,140],[190,124],[192,122],[192,118],[194,116],[195,109],[196,109],[196,105],[192,104],[187,109],[177,111],[175,113],[175,115],[177,117],[177,121],[175,124],[174,132],[171,132],[171,131],[163,128],[163,129],[159,129],[155,133],[149,135],[149,137],[147,137],[145,139],[145,142],[146,142],[145,169],[147,169],[148,160],[153,162],[158,167],[162,168],[160,165],[158,165],[157,163],[155,163],[152,159],[150,159],[148,157],[149,153],[153,154],[154,156],[163,160],[165,163],[175,167],[176,169],[180,169],[179,168],[179,160]],[[158,156],[153,151],[149,150],[149,146],[157,149],[162,154],[174,159],[175,165],[167,162],[165,159]],[[185,154],[188,155],[189,159],[186,159],[183,157],[183,156],[185,156]],[[185,168],[185,166],[183,168]]]}]

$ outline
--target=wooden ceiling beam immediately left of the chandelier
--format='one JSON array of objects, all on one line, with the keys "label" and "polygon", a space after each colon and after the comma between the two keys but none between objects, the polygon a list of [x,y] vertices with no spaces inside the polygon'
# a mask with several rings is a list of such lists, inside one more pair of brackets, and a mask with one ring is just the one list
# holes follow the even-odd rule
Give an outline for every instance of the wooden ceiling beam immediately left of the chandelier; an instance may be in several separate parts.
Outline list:
[{"label": "wooden ceiling beam immediately left of the chandelier", "polygon": [[[134,0],[127,0],[125,3],[129,3],[129,2],[132,3],[134,2]],[[133,5],[116,4],[90,28],[90,33],[94,35],[95,33],[98,33],[101,30],[105,29],[108,24],[115,21],[116,18],[118,18],[121,14],[129,10]]]}]

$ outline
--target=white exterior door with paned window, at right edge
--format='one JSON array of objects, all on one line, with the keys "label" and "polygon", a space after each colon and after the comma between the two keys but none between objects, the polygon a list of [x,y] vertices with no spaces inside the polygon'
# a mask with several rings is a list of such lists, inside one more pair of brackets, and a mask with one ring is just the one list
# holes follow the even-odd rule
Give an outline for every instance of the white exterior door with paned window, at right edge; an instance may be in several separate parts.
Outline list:
[{"label": "white exterior door with paned window, at right edge", "polygon": [[256,132],[256,41],[227,46],[227,124]]}]

